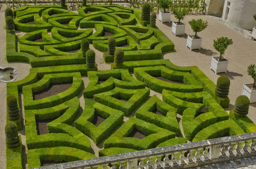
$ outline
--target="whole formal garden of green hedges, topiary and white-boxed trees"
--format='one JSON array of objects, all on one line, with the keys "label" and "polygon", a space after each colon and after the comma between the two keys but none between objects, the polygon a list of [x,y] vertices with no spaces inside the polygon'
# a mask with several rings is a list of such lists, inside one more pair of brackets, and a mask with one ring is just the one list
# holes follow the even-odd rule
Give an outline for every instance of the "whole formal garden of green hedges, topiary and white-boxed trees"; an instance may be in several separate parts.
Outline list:
[{"label": "whole formal garden of green hedges, topiary and white-boxed trees", "polygon": [[[170,21],[170,2],[160,1],[161,22]],[[35,168],[256,132],[247,117],[252,101],[246,94],[229,113],[224,110],[230,106],[227,76],[215,84],[197,66],[163,59],[175,44],[157,28],[151,6],[84,1],[74,12],[61,0],[60,5],[5,10],[6,60],[32,67],[26,78],[6,85],[7,169],[26,168],[24,149],[27,167]],[[172,10],[177,18],[172,33],[184,35],[182,20],[190,11]],[[198,33],[208,22],[193,19],[189,25],[194,33],[184,45],[200,49]],[[212,56],[211,69],[227,72],[224,53],[233,40],[219,37],[212,44],[219,54]],[[96,64],[98,54],[111,69]],[[255,70],[255,65],[247,70],[252,90]],[[18,135],[23,129],[25,146]]]}]

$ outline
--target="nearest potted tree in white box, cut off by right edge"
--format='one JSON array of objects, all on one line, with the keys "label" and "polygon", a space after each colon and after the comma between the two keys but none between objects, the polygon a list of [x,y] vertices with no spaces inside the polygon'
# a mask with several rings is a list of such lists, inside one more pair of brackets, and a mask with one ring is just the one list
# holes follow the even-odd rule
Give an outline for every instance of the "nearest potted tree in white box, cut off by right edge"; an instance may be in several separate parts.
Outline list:
[{"label": "nearest potted tree in white box, cut off by right edge", "polygon": [[245,95],[249,98],[250,103],[256,102],[256,65],[249,65],[247,68],[248,75],[252,76],[253,83],[245,83],[242,89],[242,95]]}]

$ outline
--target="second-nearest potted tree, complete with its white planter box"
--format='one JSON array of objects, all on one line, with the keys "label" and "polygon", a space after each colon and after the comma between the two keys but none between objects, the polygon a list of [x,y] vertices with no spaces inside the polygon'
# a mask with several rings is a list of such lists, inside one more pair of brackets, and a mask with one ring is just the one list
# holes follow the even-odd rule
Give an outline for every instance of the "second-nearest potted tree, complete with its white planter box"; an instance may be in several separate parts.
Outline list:
[{"label": "second-nearest potted tree, complete with its white planter box", "polygon": [[228,39],[227,37],[221,37],[217,38],[217,40],[213,40],[213,47],[220,53],[220,56],[212,55],[211,69],[215,74],[219,72],[227,73],[228,59],[224,57],[224,53],[227,47],[232,44],[233,40]]}]

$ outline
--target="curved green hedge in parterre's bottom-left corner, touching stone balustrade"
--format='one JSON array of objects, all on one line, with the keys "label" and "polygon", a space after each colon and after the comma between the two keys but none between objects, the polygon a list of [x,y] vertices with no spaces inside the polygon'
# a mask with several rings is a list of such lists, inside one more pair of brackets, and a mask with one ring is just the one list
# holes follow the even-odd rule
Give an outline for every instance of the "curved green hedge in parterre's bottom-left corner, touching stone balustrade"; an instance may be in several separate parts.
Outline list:
[{"label": "curved green hedge in parterre's bottom-left corner, touching stone balustrade", "polygon": [[78,161],[89,158],[96,158],[95,155],[72,147],[53,147],[28,150],[28,167],[35,168],[41,166],[41,161]]}]

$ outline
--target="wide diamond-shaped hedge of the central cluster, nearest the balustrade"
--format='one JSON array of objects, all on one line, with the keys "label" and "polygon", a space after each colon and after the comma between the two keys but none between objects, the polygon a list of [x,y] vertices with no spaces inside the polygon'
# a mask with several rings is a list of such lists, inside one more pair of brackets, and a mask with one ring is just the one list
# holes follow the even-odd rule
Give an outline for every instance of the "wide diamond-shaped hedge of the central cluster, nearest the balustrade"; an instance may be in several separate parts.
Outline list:
[{"label": "wide diamond-shaped hedge of the central cluster, nearest the balustrade", "polygon": [[[147,137],[143,139],[127,137],[134,129],[142,132]],[[175,133],[147,123],[138,118],[130,117],[113,135],[103,144],[104,148],[119,147],[128,149],[150,149],[160,143],[175,138]]]}]

